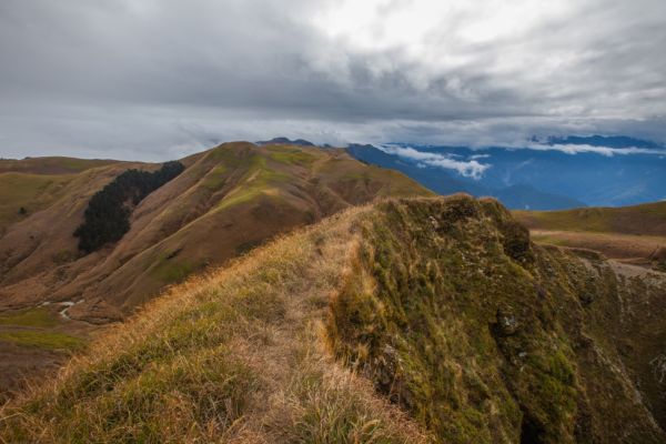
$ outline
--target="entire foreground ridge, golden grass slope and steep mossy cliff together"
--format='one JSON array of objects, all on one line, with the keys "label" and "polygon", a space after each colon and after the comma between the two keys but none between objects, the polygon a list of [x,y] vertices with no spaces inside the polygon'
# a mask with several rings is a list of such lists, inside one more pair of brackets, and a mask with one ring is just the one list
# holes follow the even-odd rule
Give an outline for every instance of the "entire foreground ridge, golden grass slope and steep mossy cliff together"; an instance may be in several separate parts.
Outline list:
[{"label": "entire foreground ridge, golden grass slope and steep mossy cliff together", "polygon": [[0,437],[663,443],[665,296],[492,199],[389,200],[170,287],[2,406]]}]

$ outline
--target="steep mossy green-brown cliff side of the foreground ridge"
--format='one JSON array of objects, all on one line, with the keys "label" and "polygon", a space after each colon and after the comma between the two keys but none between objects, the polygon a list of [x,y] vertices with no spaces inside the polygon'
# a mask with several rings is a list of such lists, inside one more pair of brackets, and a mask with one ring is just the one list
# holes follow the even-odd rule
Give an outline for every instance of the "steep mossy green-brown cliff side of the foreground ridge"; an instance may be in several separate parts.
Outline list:
[{"label": "steep mossy green-brown cliff side of the foreground ridge", "polygon": [[442,442],[666,442],[663,274],[534,245],[464,195],[360,230],[332,343]]}]

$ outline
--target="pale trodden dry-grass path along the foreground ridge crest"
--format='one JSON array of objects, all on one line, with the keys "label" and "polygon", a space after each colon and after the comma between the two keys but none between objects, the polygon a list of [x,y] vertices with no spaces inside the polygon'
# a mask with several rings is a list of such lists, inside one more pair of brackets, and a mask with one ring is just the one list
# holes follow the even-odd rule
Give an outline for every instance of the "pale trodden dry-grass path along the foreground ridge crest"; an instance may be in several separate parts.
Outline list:
[{"label": "pale trodden dry-grass path along the foreground ridge crest", "polygon": [[327,350],[324,322],[330,299],[349,273],[356,244],[354,236],[346,235],[341,242],[326,242],[323,250],[313,249],[301,276],[280,291],[283,316],[233,341],[234,355],[255,369],[263,387],[251,401],[241,430],[232,432],[240,442],[292,442],[294,424],[313,405],[330,410],[319,412],[322,423],[316,428],[334,428],[325,421],[339,421],[350,411],[363,417],[357,411],[371,406],[373,415],[385,415],[386,423],[410,431],[413,444],[426,442],[406,414],[379,396],[367,380],[342,367]]}]

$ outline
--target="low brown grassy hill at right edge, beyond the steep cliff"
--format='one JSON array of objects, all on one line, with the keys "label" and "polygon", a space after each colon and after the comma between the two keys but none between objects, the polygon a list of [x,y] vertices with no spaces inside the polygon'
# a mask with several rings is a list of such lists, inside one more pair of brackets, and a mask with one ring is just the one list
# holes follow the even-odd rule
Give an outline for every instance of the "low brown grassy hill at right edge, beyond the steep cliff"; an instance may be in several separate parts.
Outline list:
[{"label": "low brown grassy hill at right edge, beyond the steep cliff", "polygon": [[666,202],[567,211],[514,211],[535,240],[666,269]]}]

